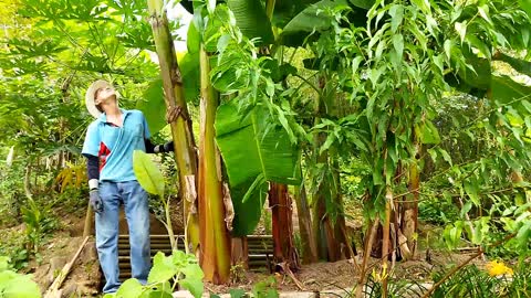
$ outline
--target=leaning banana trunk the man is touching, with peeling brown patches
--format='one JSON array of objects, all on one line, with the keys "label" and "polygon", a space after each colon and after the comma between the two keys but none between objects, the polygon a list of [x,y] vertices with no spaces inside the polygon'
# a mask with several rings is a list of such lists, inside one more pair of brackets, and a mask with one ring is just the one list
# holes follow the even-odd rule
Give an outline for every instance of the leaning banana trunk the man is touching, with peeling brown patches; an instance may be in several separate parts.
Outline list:
[{"label": "leaning banana trunk the man is touching, with peeling brown patches", "polygon": [[164,86],[166,108],[180,108],[183,117],[170,123],[171,137],[175,146],[175,159],[179,169],[179,191],[184,198],[184,222],[186,224],[187,248],[199,254],[199,219],[197,214],[197,155],[191,130],[191,119],[188,114],[183,92],[183,77],[174,41],[169,32],[168,19],[163,10],[163,0],[148,0],[149,23],[152,25],[160,65],[160,76]]}]

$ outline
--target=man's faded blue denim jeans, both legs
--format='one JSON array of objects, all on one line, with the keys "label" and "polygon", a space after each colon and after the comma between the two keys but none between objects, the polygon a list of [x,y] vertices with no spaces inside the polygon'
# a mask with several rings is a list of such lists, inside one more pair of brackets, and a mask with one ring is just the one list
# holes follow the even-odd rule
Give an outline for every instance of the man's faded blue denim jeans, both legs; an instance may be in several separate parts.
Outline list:
[{"label": "man's faded blue denim jeans, both legs", "polygon": [[129,227],[132,277],[147,283],[149,258],[149,207],[146,191],[137,181],[100,182],[103,212],[96,213],[96,248],[105,275],[103,292],[115,292],[119,287],[118,212],[124,204]]}]

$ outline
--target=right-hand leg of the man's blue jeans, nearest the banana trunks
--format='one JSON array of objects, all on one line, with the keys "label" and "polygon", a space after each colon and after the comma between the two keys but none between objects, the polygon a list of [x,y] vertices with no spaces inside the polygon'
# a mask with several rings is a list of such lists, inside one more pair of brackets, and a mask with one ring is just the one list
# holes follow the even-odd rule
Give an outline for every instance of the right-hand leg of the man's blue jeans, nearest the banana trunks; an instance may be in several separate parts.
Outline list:
[{"label": "right-hand leg of the man's blue jeans, nearest the banana trunks", "polygon": [[149,274],[149,206],[147,192],[137,181],[119,183],[129,227],[132,277],[142,284]]}]

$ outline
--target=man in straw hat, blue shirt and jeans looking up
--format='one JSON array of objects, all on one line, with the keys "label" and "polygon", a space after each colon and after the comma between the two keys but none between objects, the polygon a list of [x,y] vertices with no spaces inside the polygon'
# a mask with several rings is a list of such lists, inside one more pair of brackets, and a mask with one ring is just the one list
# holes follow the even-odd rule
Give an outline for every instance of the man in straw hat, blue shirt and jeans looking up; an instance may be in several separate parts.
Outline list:
[{"label": "man in straw hat, blue shirt and jeans looking up", "polygon": [[[115,292],[119,204],[129,228],[132,276],[146,284],[150,269],[148,200],[133,172],[133,151],[168,152],[174,145],[153,146],[142,111],[118,108],[117,94],[105,81],[88,87],[85,104],[96,118],[86,131],[82,155],[87,159],[90,204],[96,212],[96,248],[106,279],[103,291]],[[178,111],[168,117],[175,118]]]}]

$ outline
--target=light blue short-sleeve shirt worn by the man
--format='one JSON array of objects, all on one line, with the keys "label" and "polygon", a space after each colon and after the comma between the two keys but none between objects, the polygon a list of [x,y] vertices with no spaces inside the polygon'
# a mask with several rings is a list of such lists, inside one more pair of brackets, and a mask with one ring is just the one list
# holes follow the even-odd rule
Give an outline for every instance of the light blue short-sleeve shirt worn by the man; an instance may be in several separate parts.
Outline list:
[{"label": "light blue short-sleeve shirt worn by the man", "polygon": [[133,151],[146,151],[145,139],[150,137],[142,111],[121,110],[122,127],[107,123],[106,115],[102,114],[86,130],[82,155],[98,157],[100,181],[136,180],[133,171]]}]

